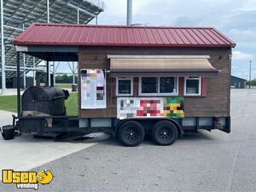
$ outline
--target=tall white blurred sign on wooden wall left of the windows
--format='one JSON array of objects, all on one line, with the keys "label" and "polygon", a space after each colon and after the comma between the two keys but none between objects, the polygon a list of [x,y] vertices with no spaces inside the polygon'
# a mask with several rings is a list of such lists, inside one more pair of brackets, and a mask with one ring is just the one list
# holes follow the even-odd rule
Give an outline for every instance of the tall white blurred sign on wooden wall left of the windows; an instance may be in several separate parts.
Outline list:
[{"label": "tall white blurred sign on wooden wall left of the windows", "polygon": [[107,108],[106,76],[102,69],[81,70],[81,108]]}]

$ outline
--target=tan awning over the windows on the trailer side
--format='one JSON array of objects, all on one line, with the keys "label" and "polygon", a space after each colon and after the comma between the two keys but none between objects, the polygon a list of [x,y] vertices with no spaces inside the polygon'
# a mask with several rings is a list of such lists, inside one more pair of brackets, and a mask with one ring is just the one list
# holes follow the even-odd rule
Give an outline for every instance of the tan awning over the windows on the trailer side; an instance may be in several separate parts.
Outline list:
[{"label": "tan awning over the windows on the trailer side", "polygon": [[110,73],[113,76],[152,73],[212,76],[216,75],[218,70],[205,58],[113,58],[110,60]]}]

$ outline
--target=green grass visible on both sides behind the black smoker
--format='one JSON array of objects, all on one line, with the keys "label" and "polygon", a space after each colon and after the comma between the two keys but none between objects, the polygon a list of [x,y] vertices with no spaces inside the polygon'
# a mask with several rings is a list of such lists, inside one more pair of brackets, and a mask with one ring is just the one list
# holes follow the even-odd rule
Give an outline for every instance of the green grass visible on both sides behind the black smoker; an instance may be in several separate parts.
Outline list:
[{"label": "green grass visible on both sides behind the black smoker", "polygon": [[[78,115],[78,93],[70,93],[65,105],[67,115]],[[0,110],[17,112],[17,96],[0,96]]]}]

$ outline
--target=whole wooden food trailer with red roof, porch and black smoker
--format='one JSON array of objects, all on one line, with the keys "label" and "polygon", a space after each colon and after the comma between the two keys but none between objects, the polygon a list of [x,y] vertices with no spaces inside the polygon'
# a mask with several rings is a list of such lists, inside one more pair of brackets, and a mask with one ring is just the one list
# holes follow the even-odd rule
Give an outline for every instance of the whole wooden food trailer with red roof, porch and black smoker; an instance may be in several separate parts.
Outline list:
[{"label": "whole wooden food trailer with red roof, porch and black smoker", "polygon": [[[15,39],[18,113],[3,137],[20,133],[113,133],[125,146],[149,134],[169,145],[198,130],[230,132],[231,51],[212,27],[33,24]],[[20,98],[20,53],[79,62],[79,115],[68,92],[31,87]],[[49,82],[49,81],[48,81]]]}]

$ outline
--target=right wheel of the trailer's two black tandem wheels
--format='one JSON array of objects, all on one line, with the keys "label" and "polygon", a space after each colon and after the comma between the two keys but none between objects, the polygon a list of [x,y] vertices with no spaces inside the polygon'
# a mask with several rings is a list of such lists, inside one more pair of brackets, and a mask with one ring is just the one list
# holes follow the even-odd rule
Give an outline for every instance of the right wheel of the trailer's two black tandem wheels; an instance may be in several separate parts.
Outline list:
[{"label": "right wheel of the trailer's two black tandem wheels", "polygon": [[177,126],[169,120],[161,120],[154,125],[151,135],[155,143],[171,145],[177,139]]}]

